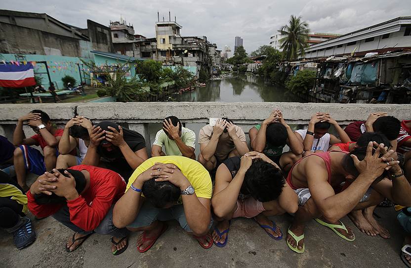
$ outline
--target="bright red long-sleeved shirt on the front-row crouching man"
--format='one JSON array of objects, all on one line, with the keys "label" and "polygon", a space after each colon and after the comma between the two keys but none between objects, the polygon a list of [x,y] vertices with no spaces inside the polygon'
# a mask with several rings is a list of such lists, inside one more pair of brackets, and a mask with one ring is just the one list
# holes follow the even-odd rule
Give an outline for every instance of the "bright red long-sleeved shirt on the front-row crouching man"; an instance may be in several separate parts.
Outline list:
[{"label": "bright red long-sleeved shirt on the front-row crouching man", "polygon": [[[70,167],[74,170],[87,170],[90,173],[90,186],[77,199],[67,201],[70,221],[84,231],[94,230],[106,216],[112,204],[125,192],[125,181],[118,173],[87,165]],[[30,191],[27,192],[28,207],[37,217],[56,213],[63,204],[39,205]]]}]

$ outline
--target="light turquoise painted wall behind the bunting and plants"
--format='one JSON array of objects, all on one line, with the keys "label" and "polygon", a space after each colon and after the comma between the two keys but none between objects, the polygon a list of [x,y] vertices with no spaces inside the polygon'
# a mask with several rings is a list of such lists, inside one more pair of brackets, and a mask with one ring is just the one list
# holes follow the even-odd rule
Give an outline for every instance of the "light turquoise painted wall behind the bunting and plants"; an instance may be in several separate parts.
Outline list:
[{"label": "light turquoise painted wall behind the bunting and plants", "polygon": [[[66,57],[66,56],[52,56],[52,55],[19,55],[21,57],[16,57],[16,54],[0,54],[0,62],[5,61],[28,61],[28,62],[40,62],[46,61],[48,66],[48,71],[50,73],[51,81],[57,84],[57,89],[63,89],[63,82],[61,78],[70,75],[76,79],[76,84],[80,84],[80,70],[82,75],[82,81],[85,81],[87,84],[90,84],[89,79],[89,69],[84,66],[78,57]],[[87,59],[87,61],[90,61]],[[36,64],[34,67],[34,73],[43,77],[42,85],[47,89],[49,87],[47,74],[37,74],[39,72],[46,72],[44,64]]]}]

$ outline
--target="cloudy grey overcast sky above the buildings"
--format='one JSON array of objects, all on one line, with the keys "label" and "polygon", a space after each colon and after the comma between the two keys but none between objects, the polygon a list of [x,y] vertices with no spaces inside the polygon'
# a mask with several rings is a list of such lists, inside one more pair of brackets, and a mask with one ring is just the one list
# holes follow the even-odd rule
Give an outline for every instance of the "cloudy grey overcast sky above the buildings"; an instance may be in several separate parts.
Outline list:
[{"label": "cloudy grey overcast sky above the buildings", "polygon": [[183,36],[206,35],[219,49],[234,49],[238,35],[247,53],[269,44],[291,14],[302,16],[312,32],[340,34],[411,15],[410,0],[1,0],[0,8],[47,13],[81,28],[87,19],[108,26],[122,15],[146,37],[155,37],[157,11],[160,20],[170,11]]}]

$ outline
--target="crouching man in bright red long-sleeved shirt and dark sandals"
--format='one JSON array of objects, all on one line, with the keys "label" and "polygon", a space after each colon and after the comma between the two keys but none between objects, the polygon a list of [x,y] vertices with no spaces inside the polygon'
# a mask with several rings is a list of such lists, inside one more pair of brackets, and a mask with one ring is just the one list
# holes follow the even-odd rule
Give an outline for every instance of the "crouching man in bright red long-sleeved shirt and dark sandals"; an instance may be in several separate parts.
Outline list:
[{"label": "crouching man in bright red long-sleeved shirt and dark sandals", "polygon": [[113,236],[111,251],[119,255],[128,246],[128,230],[113,225],[113,204],[123,195],[125,182],[116,172],[93,166],[53,169],[41,175],[27,193],[30,211],[53,217],[75,233],[66,244],[72,252],[93,233]]}]

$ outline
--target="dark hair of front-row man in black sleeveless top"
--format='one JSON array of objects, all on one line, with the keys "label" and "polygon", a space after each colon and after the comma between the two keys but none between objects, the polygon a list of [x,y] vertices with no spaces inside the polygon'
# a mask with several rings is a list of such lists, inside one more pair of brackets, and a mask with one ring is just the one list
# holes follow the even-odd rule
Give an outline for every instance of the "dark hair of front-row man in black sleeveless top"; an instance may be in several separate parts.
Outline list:
[{"label": "dark hair of front-row man in black sleeveless top", "polygon": [[285,184],[281,169],[254,159],[244,176],[242,189],[260,202],[269,202],[281,195]]}]

